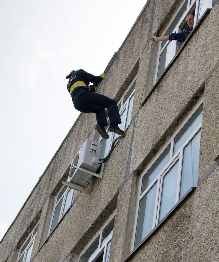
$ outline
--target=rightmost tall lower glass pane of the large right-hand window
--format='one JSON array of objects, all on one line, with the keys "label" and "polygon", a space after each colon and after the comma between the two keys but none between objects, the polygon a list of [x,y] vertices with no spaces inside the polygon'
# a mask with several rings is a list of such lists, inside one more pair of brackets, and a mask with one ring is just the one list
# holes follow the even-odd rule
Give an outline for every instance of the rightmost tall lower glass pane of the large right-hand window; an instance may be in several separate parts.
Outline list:
[{"label": "rightmost tall lower glass pane of the large right-hand window", "polygon": [[197,185],[200,138],[201,131],[197,133],[183,151],[180,199],[191,187]]}]

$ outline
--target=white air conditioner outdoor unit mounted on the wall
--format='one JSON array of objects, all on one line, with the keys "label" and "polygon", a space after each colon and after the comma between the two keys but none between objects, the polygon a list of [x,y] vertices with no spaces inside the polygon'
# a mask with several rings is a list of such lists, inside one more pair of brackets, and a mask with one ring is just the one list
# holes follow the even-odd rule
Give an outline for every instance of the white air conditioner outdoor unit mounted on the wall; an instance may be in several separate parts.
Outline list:
[{"label": "white air conditioner outdoor unit mounted on the wall", "polygon": [[68,182],[86,187],[94,175],[92,173],[96,172],[98,169],[100,150],[101,143],[86,139],[71,162]]}]

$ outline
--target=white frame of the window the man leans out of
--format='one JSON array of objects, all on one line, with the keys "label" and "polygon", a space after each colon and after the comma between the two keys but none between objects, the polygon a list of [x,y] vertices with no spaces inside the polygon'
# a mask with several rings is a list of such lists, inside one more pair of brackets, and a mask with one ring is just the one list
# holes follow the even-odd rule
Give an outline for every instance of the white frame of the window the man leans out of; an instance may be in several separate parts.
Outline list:
[{"label": "white frame of the window the man leans out of", "polygon": [[[207,3],[207,7],[208,8],[211,8],[212,7],[212,0],[188,0],[188,3],[187,3],[187,10],[184,14],[184,16],[182,16],[182,18],[179,20],[178,24],[176,25],[175,29],[173,30],[173,33],[179,33],[181,32],[181,24],[182,22],[185,20],[186,16],[190,13],[191,9],[193,8],[194,4],[195,4],[195,17],[194,17],[194,25],[193,25],[193,28],[194,26],[197,24],[197,20],[198,20],[198,7],[199,7],[199,3],[201,1],[208,1]],[[161,35],[161,36],[165,36],[166,35],[166,32],[167,30],[169,29],[169,27],[171,26],[171,24],[173,23],[175,17],[178,15],[179,11],[181,10],[181,8],[183,7],[184,3],[186,2],[186,0],[184,0],[182,2],[182,4],[180,5],[180,7],[177,9],[177,12],[176,12],[176,15],[171,19],[170,23],[168,24],[167,26],[167,29],[165,30],[165,32]],[[158,48],[158,54],[157,54],[157,65],[156,65],[156,70],[155,70],[155,80],[154,80],[154,83],[157,82],[157,80],[159,79],[159,77],[163,74],[163,72],[161,73],[161,75],[158,77],[158,69],[159,69],[159,62],[160,62],[160,56],[161,54],[163,53],[163,51],[165,50],[165,48],[167,47],[167,45],[170,43],[170,42],[173,42],[172,44],[174,45],[174,48],[173,48],[173,51],[174,51],[174,55],[173,57],[176,55],[177,51],[179,50],[179,43],[177,41],[170,41],[168,40],[166,42],[166,44],[163,46],[163,48],[161,48],[161,45],[162,45],[162,42],[163,41],[159,41],[159,48]],[[173,59],[173,58],[172,58]],[[171,60],[172,60],[171,59]],[[168,65],[167,65],[168,66]],[[167,66],[165,68],[167,68]]]}]

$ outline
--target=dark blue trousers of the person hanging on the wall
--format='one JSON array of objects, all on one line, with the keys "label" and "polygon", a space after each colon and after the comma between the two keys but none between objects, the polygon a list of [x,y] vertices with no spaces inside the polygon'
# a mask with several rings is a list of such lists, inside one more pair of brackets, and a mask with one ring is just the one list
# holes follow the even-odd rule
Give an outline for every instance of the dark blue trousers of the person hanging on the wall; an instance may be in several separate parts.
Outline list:
[{"label": "dark blue trousers of the person hanging on the wall", "polygon": [[121,123],[119,110],[115,100],[98,93],[90,92],[85,88],[83,92],[78,91],[75,92],[72,98],[75,109],[83,113],[95,113],[98,125],[102,124],[107,126],[108,123],[105,111],[105,108],[107,108],[110,124]]}]

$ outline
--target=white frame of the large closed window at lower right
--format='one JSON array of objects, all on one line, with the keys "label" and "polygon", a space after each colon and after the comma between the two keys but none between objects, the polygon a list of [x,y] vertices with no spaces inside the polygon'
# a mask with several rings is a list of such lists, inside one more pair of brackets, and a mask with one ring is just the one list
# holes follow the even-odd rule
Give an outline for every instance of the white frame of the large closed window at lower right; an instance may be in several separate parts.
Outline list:
[{"label": "white frame of the large closed window at lower right", "polygon": [[[179,126],[179,128],[175,131],[175,133],[172,135],[171,139],[165,145],[159,150],[158,154],[154,157],[154,159],[151,161],[151,163],[145,168],[145,170],[142,172],[140,176],[140,183],[139,183],[139,189],[138,189],[138,197],[137,197],[137,208],[135,213],[135,223],[134,223],[134,230],[133,230],[133,237],[131,241],[131,249],[133,250],[135,248],[135,235],[137,230],[137,221],[138,221],[138,213],[139,213],[139,204],[141,199],[147,194],[147,192],[153,187],[155,183],[157,183],[157,189],[156,189],[156,197],[155,197],[155,207],[154,207],[154,214],[153,214],[153,224],[152,229],[159,224],[159,211],[160,211],[160,203],[161,203],[161,191],[162,191],[162,183],[163,178],[167,174],[167,172],[174,166],[174,164],[179,160],[179,168],[178,168],[178,177],[177,177],[177,188],[176,188],[176,198],[175,198],[175,204],[179,202],[179,194],[180,194],[180,181],[181,181],[181,174],[182,174],[182,158],[183,158],[183,150],[188,145],[188,143],[195,137],[195,135],[200,131],[202,123],[200,123],[196,129],[192,132],[192,134],[188,137],[188,139],[183,143],[183,145],[179,148],[179,150],[173,155],[173,147],[174,147],[174,139],[178,135],[178,133],[183,129],[183,127],[188,123],[188,121],[191,119],[191,117],[194,115],[194,113],[198,110],[198,108],[203,104],[203,98],[201,97],[199,102],[196,104],[194,109],[188,114],[188,116],[184,119],[182,124]],[[163,152],[167,149],[167,147],[170,148],[170,158],[166,166],[159,172],[159,174],[154,178],[154,180],[148,185],[148,187],[141,193],[142,183],[143,183],[143,177],[145,174],[149,171],[149,169],[153,166],[153,164],[158,160],[158,158],[163,154]],[[146,236],[145,236],[146,237]]]}]

